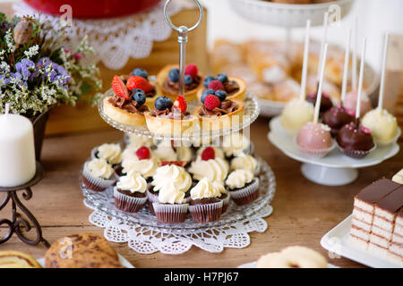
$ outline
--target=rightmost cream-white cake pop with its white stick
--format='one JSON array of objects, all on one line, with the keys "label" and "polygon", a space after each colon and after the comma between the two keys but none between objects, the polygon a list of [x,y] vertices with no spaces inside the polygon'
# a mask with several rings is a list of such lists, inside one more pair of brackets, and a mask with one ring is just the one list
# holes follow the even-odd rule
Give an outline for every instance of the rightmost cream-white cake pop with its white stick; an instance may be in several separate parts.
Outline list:
[{"label": "rightmost cream-white cake pop with its white stick", "polygon": [[365,128],[373,132],[373,139],[380,145],[393,143],[398,139],[398,122],[396,117],[382,108],[383,93],[385,88],[386,58],[388,56],[389,33],[385,35],[385,43],[382,55],[381,86],[379,89],[378,107],[368,112],[363,117]]}]

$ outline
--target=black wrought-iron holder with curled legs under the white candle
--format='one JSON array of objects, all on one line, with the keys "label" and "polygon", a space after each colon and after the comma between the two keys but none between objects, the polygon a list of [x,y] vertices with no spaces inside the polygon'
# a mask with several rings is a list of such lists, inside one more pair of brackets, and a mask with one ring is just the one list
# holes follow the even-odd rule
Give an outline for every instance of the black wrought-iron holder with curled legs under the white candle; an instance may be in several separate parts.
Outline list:
[{"label": "black wrought-iron holder with curled legs under the white candle", "polygon": [[[13,233],[17,234],[18,238],[25,243],[30,245],[37,245],[39,242],[42,242],[47,248],[50,247],[49,242],[45,240],[42,236],[42,228],[38,223],[37,219],[33,214],[30,213],[29,209],[21,203],[20,198],[18,198],[17,191],[22,190],[22,198],[25,200],[29,200],[32,198],[32,190],[30,187],[38,183],[42,180],[44,176],[44,170],[42,165],[37,161],[36,165],[36,173],[32,180],[27,183],[16,186],[16,187],[0,187],[0,193],[7,193],[3,202],[0,203],[0,211],[6,206],[10,201],[12,203],[12,219],[1,219],[0,225],[6,224],[8,226],[8,233],[0,239],[0,244],[10,240],[13,236]],[[17,206],[21,209],[22,213],[25,214],[29,220],[23,218],[21,214],[17,212]],[[33,226],[31,225],[33,224]],[[24,235],[22,230],[30,231],[32,227],[37,232],[35,239],[30,239]]]}]

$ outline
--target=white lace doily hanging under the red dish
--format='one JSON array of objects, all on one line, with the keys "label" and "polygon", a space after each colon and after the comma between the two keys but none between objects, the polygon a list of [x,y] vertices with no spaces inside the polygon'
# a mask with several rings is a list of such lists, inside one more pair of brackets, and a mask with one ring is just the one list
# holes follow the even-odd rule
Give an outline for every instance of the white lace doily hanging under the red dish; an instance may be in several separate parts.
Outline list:
[{"label": "white lace doily hanging under the red dish", "polygon": [[[148,57],[154,41],[164,41],[172,29],[169,28],[163,15],[164,2],[161,1],[149,12],[112,19],[79,20],[73,19],[73,25],[65,29],[68,40],[65,46],[72,50],[79,45],[84,36],[88,36],[89,45],[97,54],[95,63],[101,61],[110,70],[120,70],[132,57],[140,59]],[[169,5],[167,13],[174,15],[184,8],[181,2]],[[24,2],[13,4],[19,16],[31,15],[59,24],[59,17],[39,14]]]}]

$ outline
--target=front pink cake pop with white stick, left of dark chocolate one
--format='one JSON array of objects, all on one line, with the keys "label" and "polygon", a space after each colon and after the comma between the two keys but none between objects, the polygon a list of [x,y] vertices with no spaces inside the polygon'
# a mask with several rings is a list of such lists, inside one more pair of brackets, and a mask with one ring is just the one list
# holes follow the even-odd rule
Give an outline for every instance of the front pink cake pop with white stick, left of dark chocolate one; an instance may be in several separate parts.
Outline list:
[{"label": "front pink cake pop with white stick, left of dark chocolate one", "polygon": [[321,62],[321,76],[319,79],[318,94],[313,114],[313,122],[306,123],[296,135],[296,145],[299,150],[308,156],[326,156],[333,147],[330,135],[330,127],[319,122],[319,113],[322,100],[322,84],[326,67],[328,44],[324,45]]}]

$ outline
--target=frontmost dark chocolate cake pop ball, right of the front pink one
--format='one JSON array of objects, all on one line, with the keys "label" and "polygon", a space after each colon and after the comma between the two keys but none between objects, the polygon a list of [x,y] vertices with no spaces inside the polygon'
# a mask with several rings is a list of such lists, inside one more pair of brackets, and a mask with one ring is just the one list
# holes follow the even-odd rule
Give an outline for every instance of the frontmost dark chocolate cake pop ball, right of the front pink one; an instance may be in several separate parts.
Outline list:
[{"label": "frontmost dark chocolate cake pop ball, right of the front pink one", "polygon": [[358,119],[339,130],[338,144],[346,156],[356,159],[367,156],[375,146],[371,130],[364,128]]}]

